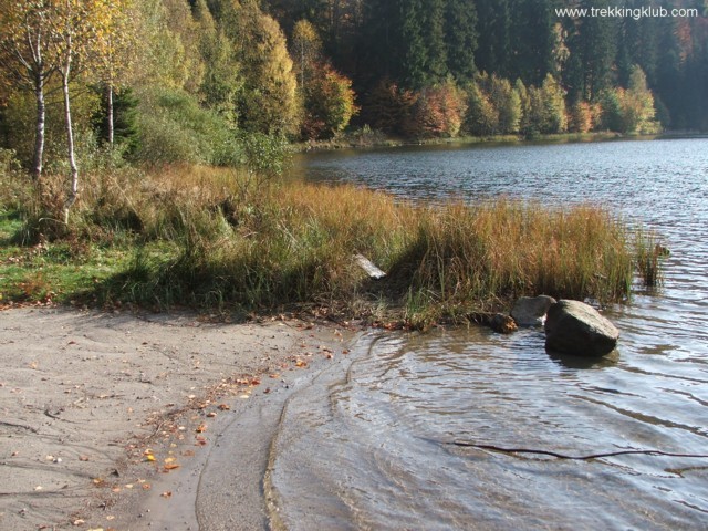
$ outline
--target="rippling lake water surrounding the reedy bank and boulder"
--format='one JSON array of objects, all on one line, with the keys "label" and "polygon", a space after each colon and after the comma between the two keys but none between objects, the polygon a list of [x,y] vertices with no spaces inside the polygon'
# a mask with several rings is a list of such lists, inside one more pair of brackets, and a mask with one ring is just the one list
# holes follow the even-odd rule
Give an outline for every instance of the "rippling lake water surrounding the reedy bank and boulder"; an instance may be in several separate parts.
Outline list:
[{"label": "rippling lake water surrounding the reedy bank and boulder", "polygon": [[290,399],[267,482],[293,530],[708,529],[708,140],[336,152],[296,160],[315,181],[408,199],[594,202],[663,236],[658,292],[607,316],[617,352],[587,363],[543,332],[362,339],[346,374]]}]

